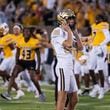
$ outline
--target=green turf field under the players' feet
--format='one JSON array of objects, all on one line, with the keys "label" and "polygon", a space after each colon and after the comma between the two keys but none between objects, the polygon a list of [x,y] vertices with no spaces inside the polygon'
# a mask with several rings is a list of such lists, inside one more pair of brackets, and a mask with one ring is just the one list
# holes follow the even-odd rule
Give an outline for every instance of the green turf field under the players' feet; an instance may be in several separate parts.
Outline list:
[{"label": "green turf field under the players' feet", "polygon": [[[25,91],[25,96],[19,100],[6,101],[0,97],[0,110],[55,110],[54,87],[42,86],[46,93],[46,102],[38,102],[33,93]],[[0,93],[4,91],[0,87]],[[76,110],[110,110],[110,93],[103,100],[90,97],[79,97]]]}]

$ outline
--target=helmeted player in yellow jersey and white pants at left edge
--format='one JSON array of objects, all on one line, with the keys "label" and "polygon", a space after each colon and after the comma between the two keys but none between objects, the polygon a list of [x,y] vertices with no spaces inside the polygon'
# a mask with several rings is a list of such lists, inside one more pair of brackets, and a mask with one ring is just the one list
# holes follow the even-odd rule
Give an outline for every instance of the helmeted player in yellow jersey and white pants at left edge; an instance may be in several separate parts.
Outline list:
[{"label": "helmeted player in yellow jersey and white pants at left edge", "polygon": [[[1,73],[5,71],[8,73],[8,74],[4,73],[4,75],[8,75],[8,80],[9,80],[9,78],[11,77],[11,71],[15,65],[15,56],[13,54],[14,39],[13,39],[13,36],[9,34],[9,27],[6,23],[3,23],[1,27],[4,30],[3,37],[1,38],[1,43],[0,43],[2,45],[1,48],[4,53],[4,59],[0,65],[0,70],[1,70]],[[13,87],[17,90],[17,94],[21,93],[22,95],[24,95],[24,93],[20,89],[17,89],[16,83],[13,83]]]}]

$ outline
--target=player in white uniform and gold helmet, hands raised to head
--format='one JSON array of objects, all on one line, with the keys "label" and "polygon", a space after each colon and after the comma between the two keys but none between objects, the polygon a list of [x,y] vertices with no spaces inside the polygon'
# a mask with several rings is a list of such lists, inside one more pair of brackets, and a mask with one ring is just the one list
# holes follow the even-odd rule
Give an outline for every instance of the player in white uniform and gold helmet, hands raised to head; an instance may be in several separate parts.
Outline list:
[{"label": "player in white uniform and gold helmet, hands raised to head", "polygon": [[[64,9],[57,15],[59,27],[51,33],[51,43],[57,58],[56,75],[58,77],[58,100],[56,110],[64,110],[67,94],[69,94],[68,109],[73,110],[77,104],[77,85],[73,74],[72,46],[77,39],[78,49],[81,42],[74,27],[75,15],[70,9]],[[74,36],[75,35],[75,36]]]}]

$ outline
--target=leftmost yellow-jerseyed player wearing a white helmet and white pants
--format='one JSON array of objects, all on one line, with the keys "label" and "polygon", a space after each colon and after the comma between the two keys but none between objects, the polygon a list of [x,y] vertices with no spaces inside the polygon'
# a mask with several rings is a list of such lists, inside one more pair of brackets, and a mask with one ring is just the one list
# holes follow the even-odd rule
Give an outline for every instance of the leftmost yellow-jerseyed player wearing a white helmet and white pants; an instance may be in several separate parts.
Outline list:
[{"label": "leftmost yellow-jerseyed player wearing a white helmet and white pants", "polygon": [[4,59],[0,64],[0,76],[5,77],[7,80],[10,78],[10,71],[14,65],[13,55],[13,39],[9,34],[9,27],[6,23],[0,25],[0,49],[3,52]]}]

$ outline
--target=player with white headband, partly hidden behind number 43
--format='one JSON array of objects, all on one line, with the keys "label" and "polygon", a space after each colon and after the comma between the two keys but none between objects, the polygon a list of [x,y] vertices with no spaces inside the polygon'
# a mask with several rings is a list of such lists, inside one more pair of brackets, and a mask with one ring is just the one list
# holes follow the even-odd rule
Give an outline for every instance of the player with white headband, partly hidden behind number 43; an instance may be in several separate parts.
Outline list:
[{"label": "player with white headband, partly hidden behind number 43", "polygon": [[[15,49],[13,51],[14,55],[16,54],[16,43],[17,43],[17,39],[20,39],[20,37],[23,37],[23,26],[19,23],[14,24],[13,26],[13,39],[14,39],[14,45],[15,45]],[[21,80],[22,79],[22,80]],[[38,91],[36,89],[36,87],[34,86],[33,82],[31,81],[31,78],[28,74],[28,71],[25,70],[23,72],[21,72],[18,77],[16,78],[16,83],[18,85],[18,87],[22,87],[22,84],[27,85],[27,91],[32,91],[35,93],[35,97],[38,97]],[[14,99],[19,99],[21,97],[21,92],[18,92],[18,94],[14,97]]]}]

